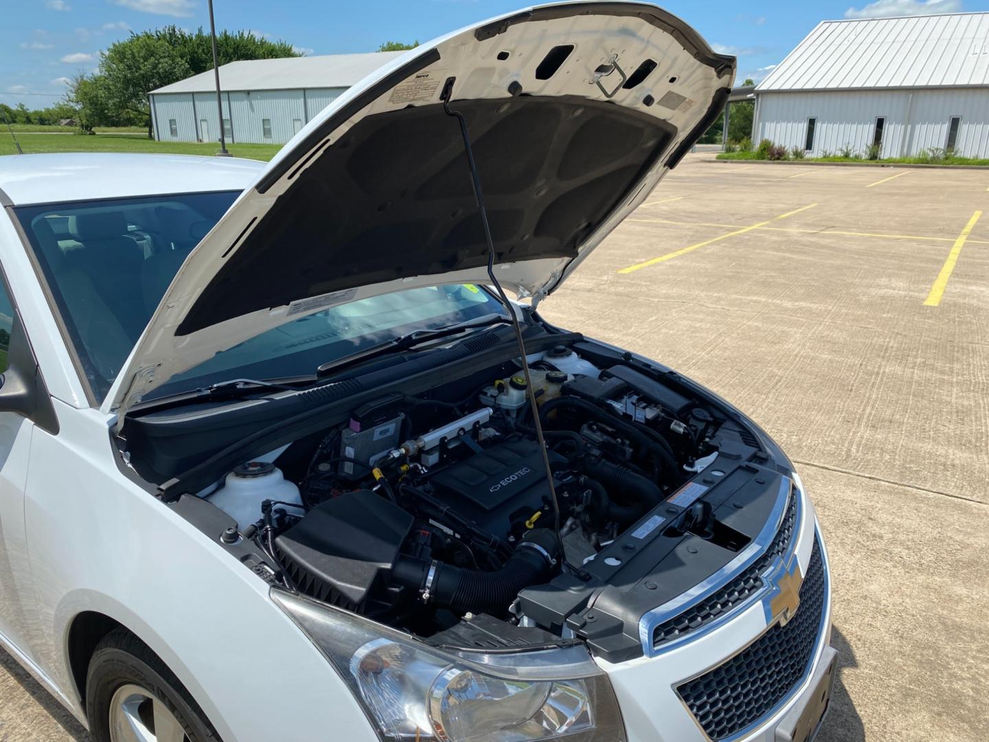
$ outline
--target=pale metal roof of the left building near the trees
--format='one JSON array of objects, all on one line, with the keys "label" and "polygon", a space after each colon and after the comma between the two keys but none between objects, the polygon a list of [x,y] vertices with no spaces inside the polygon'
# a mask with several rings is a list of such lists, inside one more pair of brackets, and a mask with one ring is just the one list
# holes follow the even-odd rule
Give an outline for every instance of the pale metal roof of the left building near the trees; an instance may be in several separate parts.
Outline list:
[{"label": "pale metal roof of the left building near the trees", "polygon": [[[220,67],[224,90],[287,90],[292,88],[348,88],[405,51],[364,54],[287,56],[248,59]],[[165,85],[151,93],[210,93],[217,89],[213,70]]]}]

